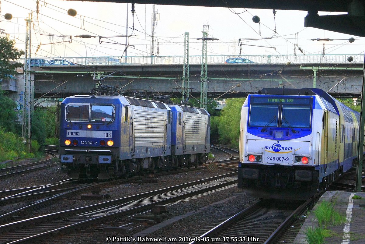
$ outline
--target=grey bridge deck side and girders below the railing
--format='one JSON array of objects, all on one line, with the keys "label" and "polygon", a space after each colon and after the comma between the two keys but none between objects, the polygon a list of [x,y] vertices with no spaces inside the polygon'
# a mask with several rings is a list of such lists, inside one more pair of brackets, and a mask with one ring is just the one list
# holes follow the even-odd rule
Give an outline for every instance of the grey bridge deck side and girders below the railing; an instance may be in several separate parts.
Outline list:
[{"label": "grey bridge deck side and girders below the railing", "polygon": [[[181,97],[182,65],[114,65],[34,67],[35,97],[64,98],[88,94],[103,79],[103,84],[118,85],[120,91],[145,90],[149,94],[174,94]],[[90,71],[94,70],[94,71]],[[358,96],[362,88],[362,64],[210,64],[210,97],[237,97],[265,87],[316,87],[335,96]],[[273,71],[274,70],[274,71]],[[114,73],[113,73],[114,72]],[[190,87],[200,96],[200,65],[191,65]]]}]

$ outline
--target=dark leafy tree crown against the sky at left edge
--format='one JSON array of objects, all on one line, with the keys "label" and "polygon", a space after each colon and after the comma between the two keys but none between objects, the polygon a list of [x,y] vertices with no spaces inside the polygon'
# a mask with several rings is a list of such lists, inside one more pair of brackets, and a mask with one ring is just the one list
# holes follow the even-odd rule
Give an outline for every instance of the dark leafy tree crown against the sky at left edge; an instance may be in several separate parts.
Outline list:
[{"label": "dark leafy tree crown against the sky at left edge", "polygon": [[23,64],[12,60],[20,58],[24,54],[22,50],[14,47],[15,41],[10,40],[7,35],[0,36],[0,79],[4,79],[9,75],[15,75],[15,68],[23,66]]}]

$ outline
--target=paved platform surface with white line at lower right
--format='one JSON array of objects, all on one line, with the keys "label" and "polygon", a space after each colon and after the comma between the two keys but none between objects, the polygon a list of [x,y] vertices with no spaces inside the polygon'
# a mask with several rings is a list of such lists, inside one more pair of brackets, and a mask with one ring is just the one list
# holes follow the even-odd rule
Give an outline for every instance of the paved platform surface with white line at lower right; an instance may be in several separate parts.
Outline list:
[{"label": "paved platform surface with white line at lower right", "polygon": [[[352,199],[354,195],[362,199]],[[314,210],[326,200],[334,204],[334,209],[346,216],[346,223],[337,226],[327,226],[330,237],[324,238],[328,244],[365,244],[365,192],[327,191],[322,195],[310,215],[301,227],[293,244],[308,244],[305,230],[318,226]]]}]

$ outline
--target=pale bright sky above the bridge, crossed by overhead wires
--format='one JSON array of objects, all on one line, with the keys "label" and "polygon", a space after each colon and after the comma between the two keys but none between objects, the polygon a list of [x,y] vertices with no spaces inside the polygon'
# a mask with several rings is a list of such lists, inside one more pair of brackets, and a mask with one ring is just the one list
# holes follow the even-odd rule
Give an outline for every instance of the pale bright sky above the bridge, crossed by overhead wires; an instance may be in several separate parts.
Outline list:
[{"label": "pale bright sky above the bridge, crossed by overhead wires", "polygon": [[[77,15],[67,14],[75,9]],[[306,11],[276,9],[275,21],[271,9],[213,8],[176,5],[155,5],[159,20],[155,24],[154,53],[159,56],[183,56],[184,33],[189,32],[189,55],[200,56],[203,26],[208,25],[208,36],[219,40],[208,41],[208,55],[293,55],[301,54],[364,54],[364,38],[304,27]],[[150,4],[135,4],[132,18],[131,4],[97,3],[88,1],[2,0],[0,29],[16,41],[18,49],[25,49],[26,18],[32,12],[32,57],[101,57],[150,56],[152,9]],[[12,14],[11,20],[4,15]],[[339,14],[320,12],[319,15]],[[342,13],[343,14],[343,13]],[[254,23],[253,16],[260,17]],[[128,28],[127,26],[128,21]],[[134,30],[132,26],[134,24]],[[275,32],[276,28],[276,32]],[[128,46],[126,35],[128,31]],[[95,38],[80,38],[92,35]],[[71,39],[69,36],[72,36]],[[103,38],[99,41],[99,36]],[[348,39],[355,38],[350,43]],[[334,41],[311,41],[331,38]],[[108,43],[111,42],[111,43]],[[120,43],[120,44],[115,44]],[[158,43],[158,46],[157,46]],[[324,44],[324,46],[323,46]],[[157,50],[158,47],[158,50]]]}]

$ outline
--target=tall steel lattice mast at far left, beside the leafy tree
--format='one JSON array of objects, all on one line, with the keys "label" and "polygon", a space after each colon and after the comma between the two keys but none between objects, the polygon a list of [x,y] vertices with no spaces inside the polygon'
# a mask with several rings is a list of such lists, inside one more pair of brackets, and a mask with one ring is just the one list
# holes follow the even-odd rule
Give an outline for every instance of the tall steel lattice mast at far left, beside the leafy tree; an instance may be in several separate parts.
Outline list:
[{"label": "tall steel lattice mast at far left, beside the leafy tree", "polygon": [[26,29],[25,60],[24,60],[24,104],[22,137],[26,139],[29,151],[32,150],[32,84],[31,84],[31,23],[32,13],[29,14]]}]

